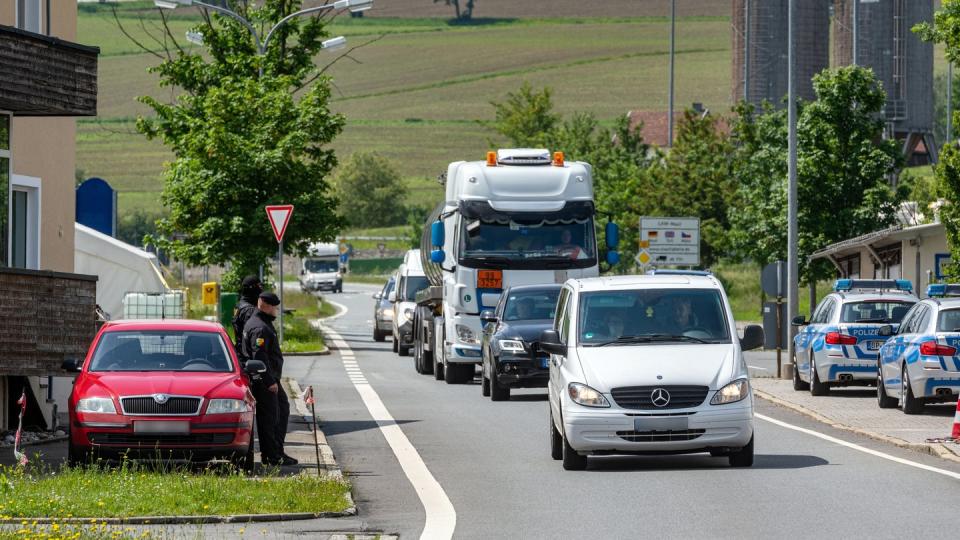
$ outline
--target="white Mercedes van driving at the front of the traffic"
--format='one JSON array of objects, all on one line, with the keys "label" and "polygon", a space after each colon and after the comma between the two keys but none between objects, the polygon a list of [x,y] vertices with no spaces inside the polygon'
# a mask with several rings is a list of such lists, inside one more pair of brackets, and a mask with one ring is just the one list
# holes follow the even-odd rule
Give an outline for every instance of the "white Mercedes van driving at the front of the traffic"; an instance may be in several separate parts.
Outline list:
[{"label": "white Mercedes van driving at the front of the traffic", "polygon": [[696,453],[753,464],[753,395],[730,303],[712,275],[567,281],[552,330],[550,443],[567,470],[587,456]]}]

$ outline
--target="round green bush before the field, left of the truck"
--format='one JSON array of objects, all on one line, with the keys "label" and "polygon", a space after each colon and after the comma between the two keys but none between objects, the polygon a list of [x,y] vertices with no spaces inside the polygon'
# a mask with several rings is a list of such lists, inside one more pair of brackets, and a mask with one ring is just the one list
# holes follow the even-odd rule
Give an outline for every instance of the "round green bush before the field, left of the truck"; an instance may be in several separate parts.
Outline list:
[{"label": "round green bush before the field, left of the truck", "polygon": [[353,154],[340,167],[334,183],[339,199],[349,201],[341,213],[351,226],[389,227],[405,222],[407,187],[383,156],[375,152]]}]

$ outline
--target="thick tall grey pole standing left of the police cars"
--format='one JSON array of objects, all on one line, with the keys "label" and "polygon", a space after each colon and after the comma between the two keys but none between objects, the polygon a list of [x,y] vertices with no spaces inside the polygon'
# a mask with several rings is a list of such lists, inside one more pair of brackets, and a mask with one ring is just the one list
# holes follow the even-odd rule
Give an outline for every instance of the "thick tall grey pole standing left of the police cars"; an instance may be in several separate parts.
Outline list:
[{"label": "thick tall grey pole standing left of the police cars", "polygon": [[[796,47],[794,44],[794,25],[796,17],[794,14],[795,0],[788,1],[789,14],[787,40],[789,41],[787,53],[787,86],[788,86],[788,122],[790,123],[790,134],[787,141],[789,160],[787,162],[787,320],[792,321],[800,311],[798,300],[798,263],[797,263],[797,90],[796,90]],[[793,347],[793,325],[788,326],[790,332],[787,334],[788,358],[794,357]],[[777,373],[780,376],[780,373]]]}]

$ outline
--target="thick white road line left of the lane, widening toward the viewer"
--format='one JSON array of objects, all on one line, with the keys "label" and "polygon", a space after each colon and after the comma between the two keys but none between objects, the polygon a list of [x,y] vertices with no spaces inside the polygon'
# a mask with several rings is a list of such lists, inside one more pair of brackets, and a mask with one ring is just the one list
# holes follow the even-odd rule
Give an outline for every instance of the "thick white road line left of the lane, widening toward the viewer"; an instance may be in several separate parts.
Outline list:
[{"label": "thick white road line left of the lane, widening toward the viewer", "polygon": [[[346,307],[339,305],[337,307],[343,310],[337,316],[346,313]],[[341,355],[352,354],[350,347],[343,341],[340,334],[326,325],[322,326],[327,335],[330,336],[331,341],[340,350]],[[357,393],[360,394],[360,399],[366,405],[370,416],[377,422],[380,432],[387,440],[387,444],[390,445],[393,454],[397,456],[400,468],[403,469],[407,480],[413,485],[413,489],[420,498],[420,503],[426,513],[426,521],[423,525],[423,531],[420,533],[421,540],[453,538],[453,531],[457,528],[457,512],[453,508],[450,498],[447,497],[447,493],[430,473],[427,464],[424,463],[423,458],[420,457],[420,453],[417,452],[410,439],[400,429],[397,421],[390,415],[390,411],[387,410],[376,390],[370,386],[370,383],[362,374],[356,375],[354,371],[356,368],[352,365],[348,366],[347,361],[344,361],[344,369],[347,370],[350,381],[357,389]]]}]

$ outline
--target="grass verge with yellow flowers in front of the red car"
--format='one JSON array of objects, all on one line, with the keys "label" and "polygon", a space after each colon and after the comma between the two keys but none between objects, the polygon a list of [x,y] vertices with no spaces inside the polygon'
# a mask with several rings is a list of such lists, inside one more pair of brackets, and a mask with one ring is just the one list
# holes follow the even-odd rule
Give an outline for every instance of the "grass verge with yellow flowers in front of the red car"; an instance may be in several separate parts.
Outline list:
[{"label": "grass verge with yellow flowers in front of the red car", "polygon": [[125,462],[44,470],[0,468],[0,516],[113,518],[341,512],[350,504],[341,480],[300,474],[250,478],[213,469],[157,470]]}]

